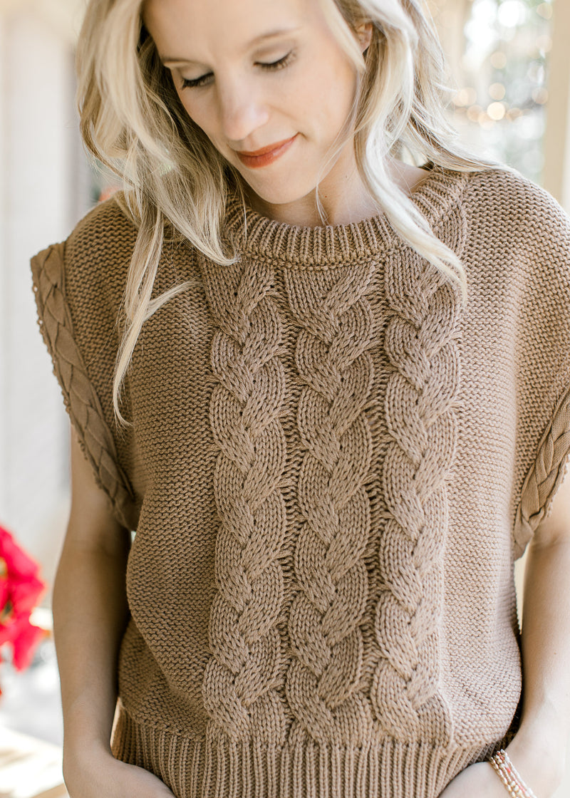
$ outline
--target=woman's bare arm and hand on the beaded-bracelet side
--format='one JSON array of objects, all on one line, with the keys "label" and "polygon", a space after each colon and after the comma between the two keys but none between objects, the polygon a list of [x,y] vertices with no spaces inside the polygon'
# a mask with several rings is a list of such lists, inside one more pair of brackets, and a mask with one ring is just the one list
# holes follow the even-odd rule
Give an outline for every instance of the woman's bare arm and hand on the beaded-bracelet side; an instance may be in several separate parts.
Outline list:
[{"label": "woman's bare arm and hand on the beaded-bracelet side", "polygon": [[[570,733],[570,470],[528,545],[522,623],[521,728],[507,752],[536,798],[564,776]],[[486,762],[459,774],[440,798],[506,798]]]}]

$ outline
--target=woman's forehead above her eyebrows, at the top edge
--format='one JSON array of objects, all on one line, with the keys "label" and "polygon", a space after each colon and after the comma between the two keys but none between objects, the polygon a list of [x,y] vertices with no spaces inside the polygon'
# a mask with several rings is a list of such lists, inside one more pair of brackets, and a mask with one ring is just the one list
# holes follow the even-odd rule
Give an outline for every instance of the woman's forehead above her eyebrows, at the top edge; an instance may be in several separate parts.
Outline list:
[{"label": "woman's forehead above her eyebrows, at the top edge", "polygon": [[317,6],[319,0],[145,0],[142,17],[161,57],[198,61],[239,55],[262,34],[307,26]]}]

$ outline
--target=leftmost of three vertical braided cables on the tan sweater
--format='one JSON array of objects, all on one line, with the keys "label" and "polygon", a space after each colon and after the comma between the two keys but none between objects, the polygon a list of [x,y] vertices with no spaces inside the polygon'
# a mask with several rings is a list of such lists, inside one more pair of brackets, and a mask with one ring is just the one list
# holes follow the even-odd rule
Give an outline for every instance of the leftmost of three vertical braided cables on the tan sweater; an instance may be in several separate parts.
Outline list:
[{"label": "leftmost of three vertical braided cables on the tan sweater", "polygon": [[247,263],[222,275],[208,264],[203,277],[220,325],[212,338],[219,384],[210,422],[220,447],[214,494],[221,519],[204,705],[213,725],[232,740],[283,743],[283,705],[274,689],[283,661],[275,621],[283,602],[279,555],[286,531],[279,490],[287,456],[279,421],[281,320],[270,295],[271,267]]}]

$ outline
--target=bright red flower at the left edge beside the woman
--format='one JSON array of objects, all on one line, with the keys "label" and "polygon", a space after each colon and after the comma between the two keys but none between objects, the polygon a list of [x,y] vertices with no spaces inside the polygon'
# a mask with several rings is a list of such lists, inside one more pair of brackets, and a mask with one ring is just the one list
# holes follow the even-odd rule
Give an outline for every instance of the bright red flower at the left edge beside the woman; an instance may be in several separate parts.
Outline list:
[{"label": "bright red flower at the left edge beside the woman", "polygon": [[38,571],[38,564],[0,527],[0,646],[11,644],[17,670],[30,665],[44,634],[30,623],[30,612],[46,587]]}]

